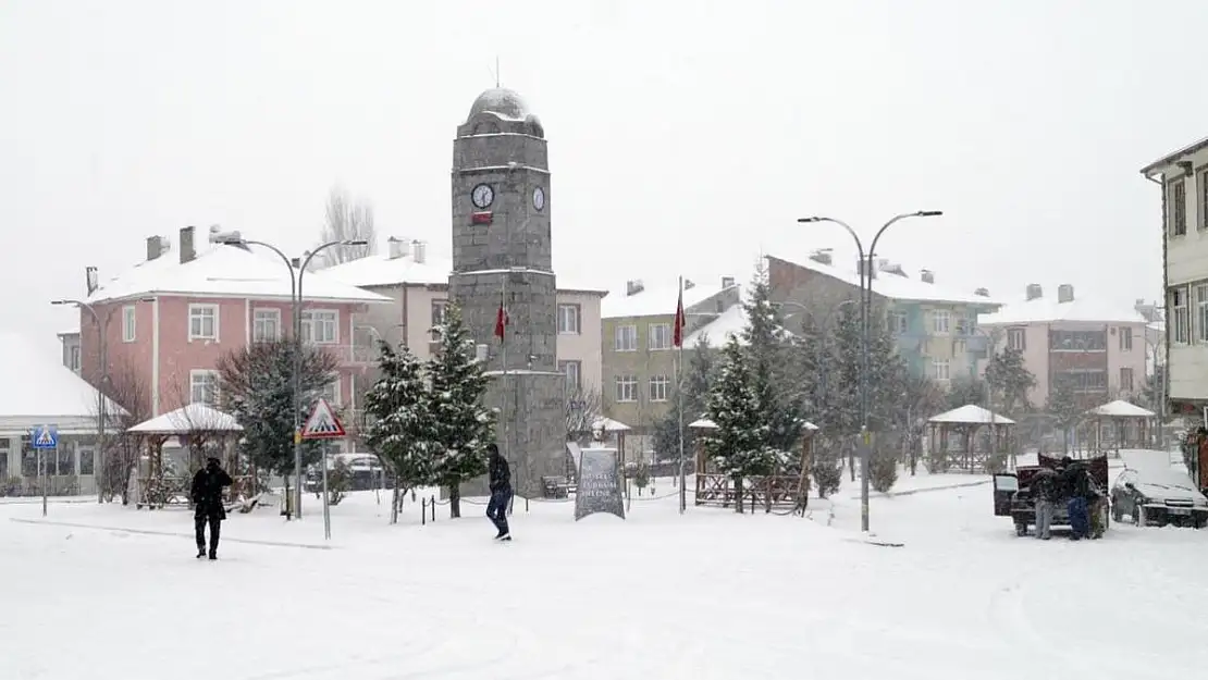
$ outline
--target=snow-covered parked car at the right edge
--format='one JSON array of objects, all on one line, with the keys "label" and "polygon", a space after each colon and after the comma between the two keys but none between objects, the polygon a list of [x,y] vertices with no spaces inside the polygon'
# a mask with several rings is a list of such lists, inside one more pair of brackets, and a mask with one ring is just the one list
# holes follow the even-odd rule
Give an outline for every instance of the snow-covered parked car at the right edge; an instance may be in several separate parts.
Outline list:
[{"label": "snow-covered parked car at the right edge", "polygon": [[1111,487],[1111,517],[1121,522],[1125,515],[1138,527],[1200,529],[1208,524],[1208,498],[1178,470],[1126,467]]}]

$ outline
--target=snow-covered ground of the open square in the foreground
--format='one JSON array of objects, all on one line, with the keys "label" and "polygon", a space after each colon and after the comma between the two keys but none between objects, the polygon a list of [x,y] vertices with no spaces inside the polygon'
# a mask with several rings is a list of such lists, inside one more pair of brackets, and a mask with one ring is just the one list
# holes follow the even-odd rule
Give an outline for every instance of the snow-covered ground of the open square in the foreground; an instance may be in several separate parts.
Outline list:
[{"label": "snow-covered ground of the open square in the foreground", "polygon": [[898,548],[858,540],[850,482],[808,518],[680,516],[666,481],[625,522],[517,502],[510,545],[492,542],[481,505],[422,527],[408,501],[389,527],[360,493],[332,510],[331,550],[304,547],[325,545],[312,495],[302,522],[234,515],[216,563],[193,559],[184,511],[52,504],[64,525],[0,505],[0,676],[1137,680],[1208,667],[1208,531],[1016,539],[988,484],[935,489],[947,478],[978,481],[902,478],[927,490],[873,498],[873,530]]}]

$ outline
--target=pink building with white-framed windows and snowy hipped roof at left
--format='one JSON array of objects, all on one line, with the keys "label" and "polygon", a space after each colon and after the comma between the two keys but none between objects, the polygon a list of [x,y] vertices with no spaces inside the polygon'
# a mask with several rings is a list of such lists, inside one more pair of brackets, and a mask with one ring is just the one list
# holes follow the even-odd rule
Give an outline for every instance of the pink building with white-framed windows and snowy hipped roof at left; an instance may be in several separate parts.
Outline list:
[{"label": "pink building with white-framed windows and snowy hipped roof at left", "polygon": [[[175,255],[165,238],[149,238],[144,262],[89,291],[85,302],[100,322],[80,310],[81,376],[100,384],[105,332],[115,396],[137,395],[150,417],[186,403],[214,403],[221,355],[292,329],[291,283],[279,257],[237,245],[198,252],[194,238],[193,227],[181,229]],[[303,339],[339,360],[339,378],[326,397],[356,409],[367,387],[358,378],[373,356],[372,348],[354,344],[358,318],[367,306],[390,301],[321,272],[307,272],[302,292]]]}]

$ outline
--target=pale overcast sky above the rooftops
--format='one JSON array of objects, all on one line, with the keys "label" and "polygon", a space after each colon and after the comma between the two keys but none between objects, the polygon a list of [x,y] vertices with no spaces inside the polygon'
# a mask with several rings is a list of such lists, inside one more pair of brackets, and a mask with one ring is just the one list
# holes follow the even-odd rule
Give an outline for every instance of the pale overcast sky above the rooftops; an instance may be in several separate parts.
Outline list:
[{"label": "pale overcast sky above the rooftops", "polygon": [[[0,0],[0,286],[62,330],[144,238],[221,223],[300,252],[329,187],[449,250],[452,138],[518,91],[550,139],[557,267],[749,274],[848,248],[1017,297],[1161,295],[1138,169],[1208,134],[1208,2]],[[846,255],[846,250],[842,251]]]}]

